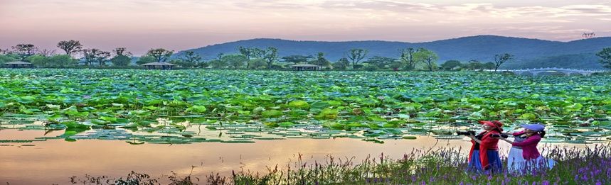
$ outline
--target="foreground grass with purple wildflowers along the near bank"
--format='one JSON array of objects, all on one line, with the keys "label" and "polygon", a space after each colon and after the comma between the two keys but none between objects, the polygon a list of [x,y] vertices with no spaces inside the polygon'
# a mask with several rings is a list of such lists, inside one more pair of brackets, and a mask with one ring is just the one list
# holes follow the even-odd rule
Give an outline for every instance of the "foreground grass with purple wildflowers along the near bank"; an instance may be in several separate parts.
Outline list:
[{"label": "foreground grass with purple wildflowers along the near bank", "polygon": [[[73,184],[611,184],[611,145],[585,149],[548,148],[548,157],[558,164],[553,169],[526,175],[508,172],[489,174],[467,172],[467,157],[459,148],[413,150],[401,159],[368,157],[356,164],[353,159],[327,157],[308,163],[299,156],[285,167],[268,167],[265,173],[240,170],[231,176],[211,174],[203,179],[171,174],[152,178],[132,172],[127,176],[72,177]],[[506,159],[504,159],[506,161]],[[504,162],[506,164],[506,162]]]}]

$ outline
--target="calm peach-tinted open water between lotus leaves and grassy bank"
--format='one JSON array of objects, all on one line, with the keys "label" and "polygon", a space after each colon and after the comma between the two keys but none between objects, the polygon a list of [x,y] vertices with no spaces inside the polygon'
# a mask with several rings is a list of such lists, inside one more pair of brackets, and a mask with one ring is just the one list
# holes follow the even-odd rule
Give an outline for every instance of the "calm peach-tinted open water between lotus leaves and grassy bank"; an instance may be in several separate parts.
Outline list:
[{"label": "calm peach-tinted open water between lotus leaves and grassy bank", "polygon": [[[0,140],[31,140],[44,135],[41,130],[0,130]],[[46,136],[60,135],[50,133]],[[470,142],[437,140],[419,136],[417,140],[384,140],[384,144],[350,138],[257,140],[254,143],[199,142],[186,145],[129,145],[119,140],[47,140],[32,143],[2,143],[0,146],[0,183],[68,184],[70,176],[124,176],[144,172],[152,176],[189,174],[203,177],[211,172],[228,175],[232,170],[265,172],[266,167],[286,166],[302,154],[308,162],[324,161],[327,155],[356,157],[360,162],[368,155],[383,153],[399,158],[413,149],[463,147],[465,155]],[[501,152],[509,145],[499,142]],[[560,144],[556,144],[560,145]],[[568,144],[561,144],[568,145]],[[584,145],[578,145],[584,146]]]}]

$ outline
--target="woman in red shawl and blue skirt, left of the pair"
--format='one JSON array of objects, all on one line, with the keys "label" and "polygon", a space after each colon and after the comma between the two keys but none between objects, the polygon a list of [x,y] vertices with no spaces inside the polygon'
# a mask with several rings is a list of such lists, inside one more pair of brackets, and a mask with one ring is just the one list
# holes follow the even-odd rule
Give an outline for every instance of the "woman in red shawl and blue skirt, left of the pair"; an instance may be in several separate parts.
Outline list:
[{"label": "woman in red shawl and blue skirt, left of the pair", "polygon": [[492,120],[480,120],[484,131],[478,135],[467,135],[473,143],[469,152],[469,169],[482,172],[490,170],[491,172],[501,172],[502,164],[499,156],[499,138],[493,135],[500,135],[503,132],[503,123]]}]

